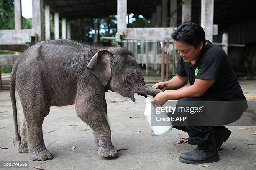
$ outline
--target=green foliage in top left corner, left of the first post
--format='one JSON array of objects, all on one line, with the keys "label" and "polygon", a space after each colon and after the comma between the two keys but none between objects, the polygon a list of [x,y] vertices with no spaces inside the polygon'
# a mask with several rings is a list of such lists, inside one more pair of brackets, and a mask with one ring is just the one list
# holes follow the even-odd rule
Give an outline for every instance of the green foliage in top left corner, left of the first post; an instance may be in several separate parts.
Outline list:
[{"label": "green foliage in top left corner, left of the first post", "polygon": [[0,29],[14,28],[14,0],[0,0]]}]

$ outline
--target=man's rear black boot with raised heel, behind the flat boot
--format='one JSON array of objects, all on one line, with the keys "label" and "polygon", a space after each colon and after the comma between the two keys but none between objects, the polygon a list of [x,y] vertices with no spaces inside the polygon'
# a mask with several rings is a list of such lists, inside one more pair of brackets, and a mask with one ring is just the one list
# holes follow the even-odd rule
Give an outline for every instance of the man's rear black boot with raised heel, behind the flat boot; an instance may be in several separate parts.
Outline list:
[{"label": "man's rear black boot with raised heel, behind the flat boot", "polygon": [[226,142],[231,134],[225,126],[212,126],[217,150],[220,149],[223,142]]}]

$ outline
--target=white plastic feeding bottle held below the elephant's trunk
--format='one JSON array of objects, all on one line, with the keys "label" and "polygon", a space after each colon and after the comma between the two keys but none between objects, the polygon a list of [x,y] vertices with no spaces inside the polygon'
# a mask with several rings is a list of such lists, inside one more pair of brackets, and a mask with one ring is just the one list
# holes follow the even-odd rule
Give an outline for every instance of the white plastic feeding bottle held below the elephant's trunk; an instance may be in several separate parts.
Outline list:
[{"label": "white plastic feeding bottle held below the elephant's trunk", "polygon": [[[156,110],[156,106],[151,103],[151,98],[150,97],[145,96],[145,101],[146,101],[146,107],[145,107],[145,111],[144,111],[144,116],[146,117],[146,119],[147,119],[149,125],[151,126],[151,129],[153,130],[154,134],[159,136],[159,135],[164,135],[165,133],[169,132],[172,129],[172,122],[171,121],[164,122],[164,124],[165,124],[164,126],[161,126],[161,125],[152,126],[151,125],[151,118],[156,119],[156,117],[158,116],[156,114],[156,112],[152,112],[152,114],[151,114],[151,108],[154,107],[155,108],[154,110]],[[163,116],[163,114],[164,114],[164,117],[166,117],[166,118],[168,117],[166,112],[164,112],[164,113],[162,112],[162,116]],[[152,117],[151,117],[151,115],[152,115]],[[166,125],[166,123],[168,125]]]}]

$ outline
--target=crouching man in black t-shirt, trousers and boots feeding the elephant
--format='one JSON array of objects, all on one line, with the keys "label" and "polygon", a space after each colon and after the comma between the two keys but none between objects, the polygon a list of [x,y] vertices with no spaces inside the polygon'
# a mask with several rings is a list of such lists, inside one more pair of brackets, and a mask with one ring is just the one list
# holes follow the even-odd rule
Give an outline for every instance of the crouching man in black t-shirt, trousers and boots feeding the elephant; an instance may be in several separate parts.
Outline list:
[{"label": "crouching man in black t-shirt, trousers and boots feeding the elephant", "polygon": [[[159,82],[153,86],[162,91],[175,91],[157,94],[152,100],[154,105],[161,107],[167,100],[172,99],[179,99],[177,105],[186,101],[246,102],[227,54],[218,45],[205,40],[205,32],[200,25],[192,22],[181,23],[172,33],[172,38],[180,54],[176,76],[169,81]],[[179,89],[188,81],[190,86]],[[238,107],[240,108],[240,106]],[[243,107],[241,108],[242,114],[247,104],[241,105],[241,107]],[[241,115],[237,119],[239,117]],[[218,161],[217,150],[231,134],[231,131],[223,125],[225,124],[219,126],[189,124],[174,126],[179,130],[187,131],[189,144],[198,145],[195,150],[181,153],[179,160],[189,164]]]}]

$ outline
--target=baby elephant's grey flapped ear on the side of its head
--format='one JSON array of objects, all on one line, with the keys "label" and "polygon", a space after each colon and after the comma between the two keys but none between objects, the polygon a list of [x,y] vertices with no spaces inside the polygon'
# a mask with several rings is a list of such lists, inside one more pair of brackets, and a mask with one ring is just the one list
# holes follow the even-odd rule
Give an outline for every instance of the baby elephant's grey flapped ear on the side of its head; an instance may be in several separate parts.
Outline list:
[{"label": "baby elephant's grey flapped ear on the side of its head", "polygon": [[111,78],[111,56],[112,53],[107,50],[98,51],[87,65],[104,86]]}]

